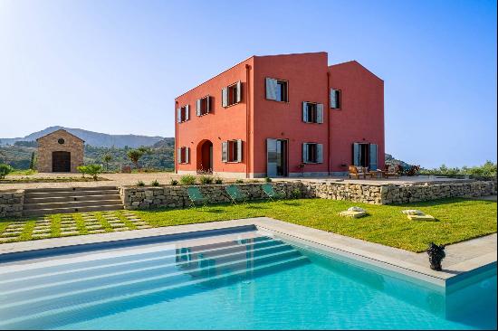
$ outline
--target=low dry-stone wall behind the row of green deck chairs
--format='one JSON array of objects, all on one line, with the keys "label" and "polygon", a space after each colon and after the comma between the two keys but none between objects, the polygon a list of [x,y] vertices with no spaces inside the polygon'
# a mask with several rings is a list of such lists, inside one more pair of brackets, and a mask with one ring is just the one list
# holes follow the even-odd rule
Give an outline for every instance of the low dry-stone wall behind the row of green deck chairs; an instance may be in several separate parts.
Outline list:
[{"label": "low dry-stone wall behind the row of green deck chairs", "polygon": [[[235,184],[248,200],[259,200],[266,197],[261,184]],[[199,185],[200,192],[206,197],[206,203],[228,203],[230,198],[225,192],[227,184]],[[292,196],[296,188],[302,192],[300,182],[274,183],[276,190],[285,192],[287,197]],[[121,200],[126,209],[147,209],[157,207],[181,208],[190,205],[186,186],[147,186],[121,187]]]}]

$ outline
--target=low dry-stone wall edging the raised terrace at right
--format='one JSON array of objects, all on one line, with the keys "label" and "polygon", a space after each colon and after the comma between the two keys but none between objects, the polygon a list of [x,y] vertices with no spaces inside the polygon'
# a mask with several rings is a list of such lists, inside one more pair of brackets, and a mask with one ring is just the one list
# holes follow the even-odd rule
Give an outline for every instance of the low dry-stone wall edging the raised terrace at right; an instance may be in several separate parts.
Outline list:
[{"label": "low dry-stone wall edging the raised terrace at right", "polygon": [[479,197],[496,194],[496,181],[420,184],[303,183],[308,197],[350,200],[359,203],[416,203],[450,197]]}]

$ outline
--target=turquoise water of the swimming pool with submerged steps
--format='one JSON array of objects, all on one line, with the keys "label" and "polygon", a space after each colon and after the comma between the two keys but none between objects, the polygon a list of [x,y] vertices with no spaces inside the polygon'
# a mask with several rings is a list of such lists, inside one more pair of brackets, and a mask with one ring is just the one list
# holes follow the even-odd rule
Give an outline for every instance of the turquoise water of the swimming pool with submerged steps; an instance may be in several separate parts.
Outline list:
[{"label": "turquoise water of the swimming pool with submerged steps", "polygon": [[61,261],[0,272],[0,328],[496,328],[496,270],[445,293],[269,237]]}]

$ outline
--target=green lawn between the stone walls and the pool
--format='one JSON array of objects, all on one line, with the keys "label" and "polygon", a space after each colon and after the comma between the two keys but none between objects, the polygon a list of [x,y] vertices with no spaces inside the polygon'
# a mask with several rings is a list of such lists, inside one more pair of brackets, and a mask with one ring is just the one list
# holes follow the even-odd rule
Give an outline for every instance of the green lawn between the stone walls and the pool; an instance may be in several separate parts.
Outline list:
[{"label": "green lawn between the stone walls and the pool", "polygon": [[[340,217],[350,206],[365,208],[360,219]],[[410,221],[403,209],[420,209],[437,222]],[[448,244],[496,232],[496,203],[480,200],[445,199],[403,205],[372,205],[324,199],[284,200],[249,205],[216,204],[197,209],[160,209],[132,212],[155,227],[268,216],[365,241],[424,251],[430,241]],[[6,221],[8,222],[8,221]],[[6,226],[0,222],[0,232]],[[84,233],[81,233],[84,234]]]}]

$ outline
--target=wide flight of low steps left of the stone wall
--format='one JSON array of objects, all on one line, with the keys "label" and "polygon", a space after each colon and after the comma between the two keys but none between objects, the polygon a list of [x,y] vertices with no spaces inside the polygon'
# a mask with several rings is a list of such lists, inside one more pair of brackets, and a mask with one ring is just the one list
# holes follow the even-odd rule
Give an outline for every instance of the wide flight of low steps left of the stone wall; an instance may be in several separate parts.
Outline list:
[{"label": "wide flight of low steps left of the stone wall", "polygon": [[24,193],[25,216],[120,209],[123,204],[116,186],[37,188]]}]

